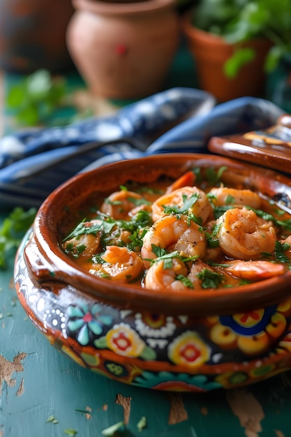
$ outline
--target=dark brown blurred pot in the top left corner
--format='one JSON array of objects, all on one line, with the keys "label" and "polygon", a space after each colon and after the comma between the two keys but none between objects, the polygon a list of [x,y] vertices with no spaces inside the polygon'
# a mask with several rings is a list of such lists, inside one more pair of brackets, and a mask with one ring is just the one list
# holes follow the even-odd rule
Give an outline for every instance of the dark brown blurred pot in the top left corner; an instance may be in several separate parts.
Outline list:
[{"label": "dark brown blurred pot in the top left corner", "polygon": [[66,27],[73,12],[70,0],[0,0],[0,68],[17,73],[72,68]]}]

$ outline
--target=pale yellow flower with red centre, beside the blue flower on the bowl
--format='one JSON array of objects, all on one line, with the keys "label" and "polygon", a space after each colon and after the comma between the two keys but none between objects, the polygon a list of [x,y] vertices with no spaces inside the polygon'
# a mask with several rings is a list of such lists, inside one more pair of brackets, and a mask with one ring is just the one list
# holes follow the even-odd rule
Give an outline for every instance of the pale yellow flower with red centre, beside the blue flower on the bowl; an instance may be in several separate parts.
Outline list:
[{"label": "pale yellow flower with red centre, beside the blue flower on the bowl", "polygon": [[126,323],[114,325],[106,334],[107,347],[119,355],[139,357],[146,344]]}]

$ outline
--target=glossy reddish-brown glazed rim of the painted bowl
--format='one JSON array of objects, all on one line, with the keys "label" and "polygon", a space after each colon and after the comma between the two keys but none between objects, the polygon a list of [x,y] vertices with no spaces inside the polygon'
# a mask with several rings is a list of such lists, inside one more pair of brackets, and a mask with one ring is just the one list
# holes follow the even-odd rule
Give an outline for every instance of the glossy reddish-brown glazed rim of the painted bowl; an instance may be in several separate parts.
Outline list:
[{"label": "glossy reddish-brown glazed rim of the painted bowl", "polygon": [[169,175],[169,172],[172,172],[171,175],[174,175],[176,170],[181,175],[193,168],[193,164],[196,166],[215,165],[218,168],[227,165],[231,172],[235,172],[236,177],[245,179],[247,186],[255,186],[267,195],[287,192],[291,198],[290,178],[274,170],[255,167],[223,156],[174,153],[103,165],[69,179],[54,190],[40,206],[33,224],[33,238],[39,253],[45,259],[45,265],[49,266],[50,273],[42,278],[41,272],[37,272],[38,283],[48,286],[52,292],[61,283],[69,286],[73,292],[80,292],[87,297],[122,306],[124,309],[186,314],[198,318],[251,311],[251,309],[270,306],[290,297],[291,271],[282,276],[264,279],[247,286],[169,295],[169,293],[153,292],[153,290],[144,288],[137,289],[130,285],[114,283],[112,286],[112,281],[89,274],[78,267],[61,250],[58,226],[61,218],[64,217],[64,211],[70,208],[73,210],[78,196],[87,198],[94,191],[95,184],[97,186],[99,184],[98,191],[102,191],[105,189],[103,180],[106,181],[106,179],[107,182],[112,183],[112,186],[119,187],[128,179],[146,182],[164,173]]}]

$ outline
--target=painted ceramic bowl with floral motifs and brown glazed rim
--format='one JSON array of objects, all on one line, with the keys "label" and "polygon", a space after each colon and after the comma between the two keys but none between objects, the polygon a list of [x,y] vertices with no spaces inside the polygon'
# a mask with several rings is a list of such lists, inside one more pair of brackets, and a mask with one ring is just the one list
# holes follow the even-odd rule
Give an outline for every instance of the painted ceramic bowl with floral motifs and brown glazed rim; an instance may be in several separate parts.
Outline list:
[{"label": "painted ceramic bowl with floral motifs and brown glazed rim", "polygon": [[120,161],[79,174],[48,196],[17,253],[15,285],[53,346],[92,371],[156,390],[241,387],[291,368],[291,271],[245,286],[171,295],[98,278],[61,250],[61,236],[96,195],[129,179],[154,182],[222,166],[225,182],[290,206],[288,177],[207,154]]}]

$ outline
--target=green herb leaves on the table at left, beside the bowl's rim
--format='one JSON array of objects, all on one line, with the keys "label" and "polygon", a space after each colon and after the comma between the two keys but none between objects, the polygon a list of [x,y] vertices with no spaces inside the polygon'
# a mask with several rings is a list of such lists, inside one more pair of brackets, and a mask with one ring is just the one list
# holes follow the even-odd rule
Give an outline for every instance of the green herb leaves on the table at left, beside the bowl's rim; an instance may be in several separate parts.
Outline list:
[{"label": "green herb leaves on the table at left, beside the bowl's rim", "polygon": [[6,267],[6,255],[20,246],[22,238],[32,225],[35,216],[36,208],[25,211],[22,207],[16,207],[4,219],[0,228],[0,269]]}]

